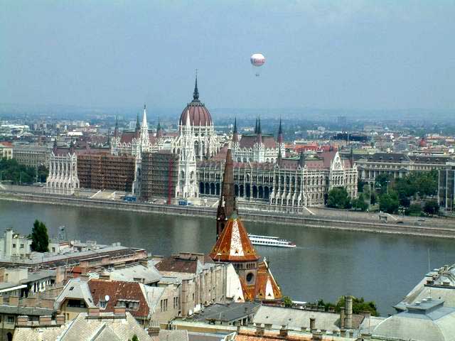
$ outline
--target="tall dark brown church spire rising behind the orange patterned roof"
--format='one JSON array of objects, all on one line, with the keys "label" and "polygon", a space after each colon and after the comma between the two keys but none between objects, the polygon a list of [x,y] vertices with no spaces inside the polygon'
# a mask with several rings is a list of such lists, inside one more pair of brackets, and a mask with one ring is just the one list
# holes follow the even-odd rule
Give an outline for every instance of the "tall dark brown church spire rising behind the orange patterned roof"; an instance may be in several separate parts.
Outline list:
[{"label": "tall dark brown church spire rising behind the orange patterned roof", "polygon": [[216,214],[216,239],[220,237],[225,228],[228,218],[235,212],[238,215],[235,203],[234,190],[234,166],[232,163],[232,151],[226,153],[225,173],[223,175],[223,188],[221,188],[220,202]]}]

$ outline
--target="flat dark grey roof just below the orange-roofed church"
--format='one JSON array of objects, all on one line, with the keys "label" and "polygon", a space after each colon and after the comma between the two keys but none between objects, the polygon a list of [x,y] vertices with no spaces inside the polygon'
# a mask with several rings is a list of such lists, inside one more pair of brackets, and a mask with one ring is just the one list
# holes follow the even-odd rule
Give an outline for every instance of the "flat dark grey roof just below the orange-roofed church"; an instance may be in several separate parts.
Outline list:
[{"label": "flat dark grey roof just below the orange-roofed church", "polygon": [[202,312],[194,314],[193,320],[221,320],[225,322],[232,322],[254,314],[259,306],[260,304],[255,302],[235,302],[228,304],[216,303],[209,305]]}]

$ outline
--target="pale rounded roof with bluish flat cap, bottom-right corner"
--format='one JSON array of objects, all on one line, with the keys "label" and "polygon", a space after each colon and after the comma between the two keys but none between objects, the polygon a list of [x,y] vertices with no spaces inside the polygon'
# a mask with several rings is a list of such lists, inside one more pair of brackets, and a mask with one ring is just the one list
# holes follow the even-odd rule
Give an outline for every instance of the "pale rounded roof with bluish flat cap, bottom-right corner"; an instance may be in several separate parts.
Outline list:
[{"label": "pale rounded roof with bluish flat cap, bottom-right corner", "polygon": [[455,308],[444,307],[443,303],[441,300],[430,300],[410,305],[408,310],[382,321],[372,334],[398,340],[453,341]]}]

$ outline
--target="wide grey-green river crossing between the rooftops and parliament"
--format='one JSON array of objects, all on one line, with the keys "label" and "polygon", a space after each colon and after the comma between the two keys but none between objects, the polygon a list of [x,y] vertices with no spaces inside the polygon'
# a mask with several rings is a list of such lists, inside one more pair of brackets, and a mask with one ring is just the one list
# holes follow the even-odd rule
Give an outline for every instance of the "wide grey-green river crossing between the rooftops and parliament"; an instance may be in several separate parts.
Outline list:
[{"label": "wide grey-green river crossing between the rooftops and parliament", "polygon": [[[240,212],[241,215],[241,212]],[[152,215],[82,207],[0,200],[0,233],[8,227],[31,232],[42,220],[50,236],[64,225],[70,239],[121,242],[151,254],[178,251],[208,253],[215,242],[215,217]],[[405,296],[432,268],[455,263],[455,241],[390,234],[328,231],[297,226],[245,222],[248,232],[279,236],[295,249],[257,247],[284,295],[295,301],[336,301],[349,294],[376,301],[381,315]],[[429,252],[428,252],[429,251]],[[428,254],[430,257],[428,257]]]}]

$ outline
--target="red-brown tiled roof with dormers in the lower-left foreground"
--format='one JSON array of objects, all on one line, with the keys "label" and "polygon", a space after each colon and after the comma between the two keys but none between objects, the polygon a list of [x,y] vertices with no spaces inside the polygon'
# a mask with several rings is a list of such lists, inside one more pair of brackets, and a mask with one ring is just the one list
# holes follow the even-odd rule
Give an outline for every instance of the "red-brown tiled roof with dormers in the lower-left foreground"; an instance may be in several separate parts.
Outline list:
[{"label": "red-brown tiled roof with dormers in the lower-left foreground", "polygon": [[106,308],[103,310],[106,313],[114,312],[114,307],[118,305],[117,301],[125,300],[139,303],[139,308],[135,310],[127,309],[135,318],[149,315],[149,305],[142,293],[141,286],[137,282],[91,279],[88,281],[88,286],[95,305],[98,305],[99,301],[105,301],[105,297],[109,296],[109,301],[107,301]]}]

